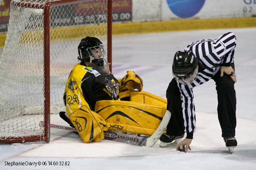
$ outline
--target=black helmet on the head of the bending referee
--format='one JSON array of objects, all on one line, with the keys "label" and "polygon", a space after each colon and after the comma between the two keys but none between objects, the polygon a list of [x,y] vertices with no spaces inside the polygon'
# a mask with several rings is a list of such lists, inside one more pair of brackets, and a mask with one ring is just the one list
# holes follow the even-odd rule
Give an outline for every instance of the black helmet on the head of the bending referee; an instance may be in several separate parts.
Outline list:
[{"label": "black helmet on the head of the bending referee", "polygon": [[172,74],[175,79],[186,79],[194,74],[198,58],[192,51],[177,51],[172,63]]}]

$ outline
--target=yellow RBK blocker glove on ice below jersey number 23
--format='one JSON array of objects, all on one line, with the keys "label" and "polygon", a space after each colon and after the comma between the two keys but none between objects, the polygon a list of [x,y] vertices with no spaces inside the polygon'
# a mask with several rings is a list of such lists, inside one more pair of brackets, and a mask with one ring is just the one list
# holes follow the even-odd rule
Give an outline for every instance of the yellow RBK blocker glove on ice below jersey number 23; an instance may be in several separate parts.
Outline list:
[{"label": "yellow RBK blocker glove on ice below jersey number 23", "polygon": [[86,105],[77,109],[69,117],[84,143],[100,142],[104,139],[103,131],[108,130],[105,127],[105,120],[99,114],[90,111]]}]

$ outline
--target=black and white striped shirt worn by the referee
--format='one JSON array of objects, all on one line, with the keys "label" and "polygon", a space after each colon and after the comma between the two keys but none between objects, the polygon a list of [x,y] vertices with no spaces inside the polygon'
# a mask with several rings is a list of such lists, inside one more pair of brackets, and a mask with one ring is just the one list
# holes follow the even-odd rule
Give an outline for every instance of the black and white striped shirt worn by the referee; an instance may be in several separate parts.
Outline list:
[{"label": "black and white striped shirt worn by the referee", "polygon": [[188,85],[178,83],[182,99],[182,112],[186,133],[196,129],[195,105],[192,88],[204,84],[219,71],[221,65],[234,62],[236,36],[232,32],[221,35],[218,39],[198,40],[189,44],[185,51],[191,50],[204,66],[198,77]]}]

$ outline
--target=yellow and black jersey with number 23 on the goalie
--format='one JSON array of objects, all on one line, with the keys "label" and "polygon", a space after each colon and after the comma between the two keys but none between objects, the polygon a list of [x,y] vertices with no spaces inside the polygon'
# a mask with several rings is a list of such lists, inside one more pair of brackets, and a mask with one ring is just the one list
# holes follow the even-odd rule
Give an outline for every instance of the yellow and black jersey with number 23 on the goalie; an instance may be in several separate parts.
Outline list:
[{"label": "yellow and black jersey with number 23 on the goalie", "polygon": [[118,95],[119,83],[113,74],[102,75],[95,68],[78,63],[67,79],[63,99],[70,116],[83,105],[94,111],[97,101],[118,99]]}]

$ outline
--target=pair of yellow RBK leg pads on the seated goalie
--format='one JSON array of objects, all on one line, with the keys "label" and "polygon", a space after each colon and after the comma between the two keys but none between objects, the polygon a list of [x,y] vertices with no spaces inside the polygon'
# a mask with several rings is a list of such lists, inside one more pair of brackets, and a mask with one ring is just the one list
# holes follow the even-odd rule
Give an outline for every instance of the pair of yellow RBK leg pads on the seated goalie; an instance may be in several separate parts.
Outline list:
[{"label": "pair of yellow RBK leg pads on the seated goalie", "polygon": [[152,135],[163,119],[167,101],[143,91],[126,91],[121,96],[132,101],[96,102],[95,111],[105,119],[108,129]]}]

